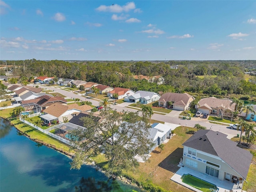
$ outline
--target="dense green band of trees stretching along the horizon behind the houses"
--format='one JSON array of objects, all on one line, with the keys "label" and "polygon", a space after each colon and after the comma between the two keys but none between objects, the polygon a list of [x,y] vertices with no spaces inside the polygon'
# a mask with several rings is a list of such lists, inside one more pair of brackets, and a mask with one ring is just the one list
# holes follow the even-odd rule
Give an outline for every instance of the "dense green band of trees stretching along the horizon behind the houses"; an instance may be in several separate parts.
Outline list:
[{"label": "dense green band of trees stretching along the horizon behind the houses", "polygon": [[[253,70],[256,61],[113,61],[92,62],[62,60],[6,61],[14,76],[32,78],[48,76],[97,82],[112,87],[130,88],[134,91],[189,92],[200,95],[243,94],[256,96],[256,79],[247,81],[244,72]],[[171,66],[178,65],[178,69]],[[6,63],[0,61],[0,66]],[[0,70],[4,74],[5,70]],[[157,85],[146,80],[134,80],[133,75],[163,76],[165,84]],[[202,76],[202,77],[198,77]]]}]

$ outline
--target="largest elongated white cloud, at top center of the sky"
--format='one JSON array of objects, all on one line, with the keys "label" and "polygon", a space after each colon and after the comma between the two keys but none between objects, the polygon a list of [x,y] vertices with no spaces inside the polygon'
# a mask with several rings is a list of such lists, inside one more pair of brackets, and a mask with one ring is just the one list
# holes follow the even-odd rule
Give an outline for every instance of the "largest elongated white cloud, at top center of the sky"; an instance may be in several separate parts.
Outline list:
[{"label": "largest elongated white cloud, at top center of the sky", "polygon": [[101,5],[98,8],[96,8],[97,11],[103,11],[103,12],[114,12],[114,13],[120,13],[120,12],[129,12],[130,10],[135,9],[134,2],[128,2],[123,6],[120,6],[118,4],[106,6]]}]

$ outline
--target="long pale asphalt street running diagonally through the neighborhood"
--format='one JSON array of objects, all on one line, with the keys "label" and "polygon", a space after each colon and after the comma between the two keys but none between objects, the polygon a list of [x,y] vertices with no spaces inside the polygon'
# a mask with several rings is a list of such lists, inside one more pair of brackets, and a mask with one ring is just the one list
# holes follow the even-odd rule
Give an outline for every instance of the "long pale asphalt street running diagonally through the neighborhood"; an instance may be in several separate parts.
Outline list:
[{"label": "long pale asphalt street running diagonally through the neighborhood", "polygon": [[[85,100],[90,101],[94,106],[98,106],[99,104],[97,100],[85,98],[81,94],[75,94],[72,91],[63,90],[59,87],[43,86],[43,85],[39,85],[39,87],[41,87],[42,89],[47,88],[47,90],[54,90],[54,92],[58,92],[68,98],[79,98],[82,101],[85,101]],[[117,104],[117,105],[110,105],[111,108],[116,109],[119,112],[121,112],[122,110],[131,111],[131,112],[137,111],[136,109],[128,108],[127,106],[128,106],[128,103],[126,102],[122,104]],[[191,120],[184,120],[184,119],[178,118],[177,116],[171,116],[170,114],[168,115],[153,114],[151,119],[162,121],[162,122],[174,123],[182,126],[188,126],[188,127],[194,127],[195,124],[199,123],[200,125],[205,126],[207,129],[211,129],[214,131],[219,131],[224,134],[227,134],[228,138],[232,138],[233,136],[240,134],[240,131],[230,129],[228,128],[228,126],[212,124],[208,122],[208,120],[205,120],[203,118],[192,117]]]}]

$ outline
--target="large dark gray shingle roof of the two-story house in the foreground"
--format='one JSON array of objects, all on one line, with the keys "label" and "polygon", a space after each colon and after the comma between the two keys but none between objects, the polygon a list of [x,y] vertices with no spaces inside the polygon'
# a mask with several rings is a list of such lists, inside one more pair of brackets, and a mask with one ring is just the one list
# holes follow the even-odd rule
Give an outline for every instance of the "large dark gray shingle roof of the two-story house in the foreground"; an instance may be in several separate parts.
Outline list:
[{"label": "large dark gray shingle roof of the two-story house in the foreground", "polygon": [[[220,157],[244,179],[248,174],[252,154],[236,146],[227,135],[212,130],[198,130],[182,145]],[[202,138],[202,139],[200,139]]]}]

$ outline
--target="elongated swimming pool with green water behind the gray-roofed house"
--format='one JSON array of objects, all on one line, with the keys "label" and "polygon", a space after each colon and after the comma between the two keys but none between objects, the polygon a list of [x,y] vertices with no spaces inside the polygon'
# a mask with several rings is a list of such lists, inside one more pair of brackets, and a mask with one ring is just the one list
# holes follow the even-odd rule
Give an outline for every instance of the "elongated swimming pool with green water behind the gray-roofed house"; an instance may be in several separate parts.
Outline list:
[{"label": "elongated swimming pool with green water behind the gray-roofed house", "polygon": [[217,189],[216,185],[213,185],[213,184],[210,184],[204,180],[201,180],[197,177],[194,177],[190,174],[184,174],[182,177],[182,182],[196,188],[196,189],[199,189],[203,192],[209,192],[210,188],[213,188],[213,189]]}]

